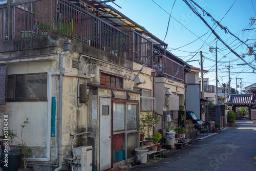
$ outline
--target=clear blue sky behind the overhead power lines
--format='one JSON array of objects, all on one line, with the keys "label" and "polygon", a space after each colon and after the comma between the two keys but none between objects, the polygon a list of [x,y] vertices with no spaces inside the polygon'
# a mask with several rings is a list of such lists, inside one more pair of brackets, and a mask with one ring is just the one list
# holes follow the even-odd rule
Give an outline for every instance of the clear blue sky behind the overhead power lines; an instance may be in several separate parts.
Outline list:
[{"label": "clear blue sky behind the overhead power lines", "polygon": [[[250,18],[256,17],[256,12],[254,11],[254,9],[256,10],[256,1],[194,1],[241,40],[246,41],[248,38],[250,38],[248,41],[246,41],[247,45],[253,46],[254,42],[256,42],[256,32],[253,32],[254,30],[242,31],[243,29],[255,29],[255,23],[250,26]],[[163,40],[169,19],[169,14],[167,13],[170,13],[172,10],[175,0],[154,0],[154,2],[152,0],[116,0],[115,3],[118,4],[121,9],[112,3],[108,4],[116,8],[127,17],[130,17],[132,20],[134,20],[134,22],[145,27],[146,30]],[[156,4],[158,4],[163,9],[161,9]],[[230,9],[231,6],[232,8]],[[215,29],[216,24],[214,25],[214,22],[212,22],[210,17],[206,15],[204,16],[203,12],[199,8],[196,9],[200,12],[206,22],[211,27],[213,26],[213,29]],[[226,42],[226,44],[229,45],[229,47],[231,47],[239,55],[243,53],[247,54],[247,47],[241,44],[240,41],[236,40],[235,37],[230,34],[226,34],[224,30],[220,29],[220,27],[217,27],[215,31]],[[205,56],[203,67],[205,70],[209,71],[209,73],[204,75],[204,77],[208,77],[210,84],[215,85],[215,51],[209,52],[209,47],[215,48],[217,40],[216,36],[210,33],[211,31],[209,31],[209,28],[196,14],[191,11],[191,9],[183,1],[176,0],[172,11],[172,17],[170,18],[168,33],[165,39],[165,42],[168,44],[168,50],[170,50],[170,52],[183,59],[184,61],[197,59],[200,60],[200,51],[202,51],[203,55]],[[190,42],[192,43],[189,44]],[[217,47],[219,48],[217,50],[217,55],[219,61],[218,79],[220,84],[228,83],[227,67],[229,65],[229,61],[232,88],[236,88],[236,78],[243,78],[242,87],[256,83],[256,74],[252,73],[253,69],[251,69],[249,66],[237,66],[237,64],[244,62],[236,55],[230,53],[230,50],[228,50],[221,41],[217,41]],[[223,58],[223,56],[226,57]],[[255,67],[256,63],[253,59],[255,59],[253,55],[245,55],[244,57],[245,61],[251,62],[252,67]],[[188,64],[200,68],[198,61],[188,62]],[[254,72],[256,72],[256,70]],[[238,79],[238,83],[240,84],[240,79]],[[220,84],[218,85],[219,87]],[[238,90],[240,91],[240,88],[238,88]]]}]

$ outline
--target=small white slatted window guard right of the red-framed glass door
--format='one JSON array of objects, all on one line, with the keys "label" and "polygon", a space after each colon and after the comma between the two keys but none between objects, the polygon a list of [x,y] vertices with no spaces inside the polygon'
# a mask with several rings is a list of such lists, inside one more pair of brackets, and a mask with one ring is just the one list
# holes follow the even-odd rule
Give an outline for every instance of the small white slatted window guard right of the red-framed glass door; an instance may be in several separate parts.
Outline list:
[{"label": "small white slatted window guard right of the red-framed glass door", "polygon": [[155,97],[140,97],[140,111],[154,111],[156,109]]}]

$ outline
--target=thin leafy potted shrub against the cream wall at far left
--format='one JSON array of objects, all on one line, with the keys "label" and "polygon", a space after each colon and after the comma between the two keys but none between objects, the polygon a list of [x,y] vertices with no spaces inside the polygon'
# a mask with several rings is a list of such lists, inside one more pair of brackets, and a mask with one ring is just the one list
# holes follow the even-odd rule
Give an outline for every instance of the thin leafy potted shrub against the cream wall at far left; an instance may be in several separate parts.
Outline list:
[{"label": "thin leafy potted shrub against the cream wall at far left", "polygon": [[29,148],[26,145],[26,142],[24,142],[23,140],[23,133],[24,133],[24,129],[25,126],[29,123],[29,118],[26,118],[26,120],[23,122],[23,124],[20,124],[20,136],[17,135],[17,132],[13,132],[11,130],[8,130],[8,137],[12,138],[15,142],[18,143],[19,149],[21,151],[20,156],[22,156],[24,158],[24,167],[20,167],[17,169],[17,171],[19,170],[33,170],[32,166],[27,166],[27,162],[29,159],[29,156],[32,152],[31,148]]}]

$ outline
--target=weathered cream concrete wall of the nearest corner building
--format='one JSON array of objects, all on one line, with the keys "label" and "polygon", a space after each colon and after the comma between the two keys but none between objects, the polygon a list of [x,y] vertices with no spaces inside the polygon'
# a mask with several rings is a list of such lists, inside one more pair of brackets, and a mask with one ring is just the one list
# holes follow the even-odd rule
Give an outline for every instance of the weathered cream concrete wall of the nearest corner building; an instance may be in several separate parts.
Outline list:
[{"label": "weathered cream concrete wall of the nearest corner building", "polygon": [[[8,66],[8,74],[49,73],[53,71],[61,71],[59,68],[59,53],[65,51],[62,48],[65,39],[65,37],[60,35],[48,35],[33,37],[32,41],[31,38],[0,41],[0,46],[4,47],[0,50],[0,63],[10,63]],[[66,68],[66,73],[78,74],[78,70],[72,68],[72,59],[78,60],[80,54],[86,54],[88,57],[81,58],[81,74],[84,73],[84,67],[88,63],[91,63],[91,66],[88,67],[87,73],[95,74],[95,77],[88,80],[88,83],[100,86],[100,70],[108,71],[113,74],[127,74],[132,76],[133,62],[73,40],[72,42],[75,44],[73,51],[67,55],[63,55],[63,65]],[[90,57],[106,62],[90,59]],[[116,66],[113,66],[110,63],[113,63]],[[123,68],[120,68],[119,66]],[[150,81],[150,76],[147,75],[144,79],[148,79],[148,82],[141,86],[150,87],[151,89],[152,82]],[[81,84],[85,83],[83,78],[80,78],[80,81]],[[70,143],[72,137],[70,134],[73,135],[84,131],[90,131],[91,134],[88,136],[78,137],[74,146],[93,145],[93,168],[96,169],[97,156],[99,153],[97,145],[99,141],[98,120],[91,119],[91,100],[88,101],[88,106],[84,104],[80,107],[77,106],[77,83],[78,78],[63,76],[62,158],[65,156],[71,157]],[[133,84],[133,80],[124,79],[124,90],[132,91]],[[126,94],[124,92],[114,92],[118,98],[126,99]],[[98,92],[97,89],[90,90],[90,98],[93,94],[98,95],[98,98],[99,96],[109,97],[111,91],[108,89],[101,89],[100,92]],[[58,103],[59,100],[57,95],[58,78],[57,76],[53,76],[52,96],[56,97],[56,103]],[[129,95],[131,96],[131,99],[139,100],[139,94],[129,93]],[[47,97],[47,99],[48,98],[49,97]],[[26,135],[24,134],[24,139],[25,141],[29,141],[27,145],[32,147],[31,157],[46,157],[46,130],[48,126],[47,108],[47,101],[7,102],[7,105],[0,106],[0,112],[8,114],[9,129],[15,130],[21,121],[26,117],[29,117],[29,131],[26,132]],[[57,109],[55,125],[57,134]],[[17,128],[17,131],[19,131],[19,128]],[[16,144],[13,143],[12,145]],[[56,146],[57,137],[51,137],[51,160],[50,162],[43,163],[55,163],[57,158]],[[50,170],[49,168],[50,167],[38,167],[37,170]]]}]

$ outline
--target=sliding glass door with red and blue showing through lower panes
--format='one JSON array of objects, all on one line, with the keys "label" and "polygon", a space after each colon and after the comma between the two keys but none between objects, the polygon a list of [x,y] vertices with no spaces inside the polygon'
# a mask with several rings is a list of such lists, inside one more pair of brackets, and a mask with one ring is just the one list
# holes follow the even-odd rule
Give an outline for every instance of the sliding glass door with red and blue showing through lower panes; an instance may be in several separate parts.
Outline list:
[{"label": "sliding glass door with red and blue showing through lower panes", "polygon": [[135,156],[138,147],[138,103],[113,101],[113,163]]}]

